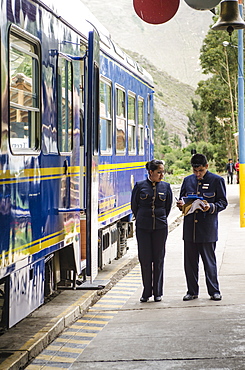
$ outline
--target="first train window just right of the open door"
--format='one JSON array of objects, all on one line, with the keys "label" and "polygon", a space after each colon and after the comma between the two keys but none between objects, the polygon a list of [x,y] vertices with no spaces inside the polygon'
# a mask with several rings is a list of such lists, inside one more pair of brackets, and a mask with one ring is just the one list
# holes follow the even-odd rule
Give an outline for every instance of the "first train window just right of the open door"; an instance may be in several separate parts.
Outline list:
[{"label": "first train window just right of the open door", "polygon": [[[101,84],[104,84],[105,87],[109,88],[109,99],[105,103],[103,109],[103,102],[101,101]],[[103,89],[103,90],[104,90]],[[104,90],[105,91],[105,90]],[[108,90],[106,91],[106,93]],[[105,96],[105,95],[104,95]],[[112,81],[100,76],[100,131],[99,131],[99,143],[100,143],[100,153],[103,155],[111,155],[113,147],[113,104],[112,104]],[[109,106],[109,109],[108,109]],[[102,121],[104,125],[102,126]]]}]

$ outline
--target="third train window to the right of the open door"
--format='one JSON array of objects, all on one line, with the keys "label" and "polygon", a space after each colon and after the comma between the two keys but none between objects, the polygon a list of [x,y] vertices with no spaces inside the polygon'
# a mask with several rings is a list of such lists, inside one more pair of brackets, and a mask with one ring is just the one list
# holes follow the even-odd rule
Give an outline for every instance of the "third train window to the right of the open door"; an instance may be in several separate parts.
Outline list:
[{"label": "third train window to the right of the open door", "polygon": [[[129,100],[133,99],[133,116],[131,117],[131,109]],[[130,136],[131,133],[131,136]],[[130,140],[130,138],[133,138]],[[127,97],[127,142],[128,142],[128,154],[136,155],[136,94],[132,91],[128,91]],[[130,145],[132,143],[133,145]]]}]

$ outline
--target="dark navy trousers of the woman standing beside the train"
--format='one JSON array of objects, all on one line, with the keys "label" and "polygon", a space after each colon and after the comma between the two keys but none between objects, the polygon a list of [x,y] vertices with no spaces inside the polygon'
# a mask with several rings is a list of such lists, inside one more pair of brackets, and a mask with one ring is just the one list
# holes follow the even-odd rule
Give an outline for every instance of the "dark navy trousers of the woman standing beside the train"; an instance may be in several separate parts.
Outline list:
[{"label": "dark navy trousers of the woman standing beside the train", "polygon": [[136,228],[138,256],[143,281],[142,297],[163,295],[163,263],[168,228],[146,230]]}]

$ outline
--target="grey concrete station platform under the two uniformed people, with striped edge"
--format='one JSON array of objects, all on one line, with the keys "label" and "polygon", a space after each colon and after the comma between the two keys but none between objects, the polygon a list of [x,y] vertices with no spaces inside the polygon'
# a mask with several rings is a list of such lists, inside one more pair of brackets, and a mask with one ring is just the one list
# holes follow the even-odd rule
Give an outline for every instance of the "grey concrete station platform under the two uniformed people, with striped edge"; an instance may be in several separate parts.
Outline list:
[{"label": "grey concrete station platform under the two uniformed people, with striped edge", "polygon": [[100,281],[109,281],[105,290],[63,291],[2,335],[0,369],[244,370],[245,229],[239,223],[239,186],[227,191],[217,244],[222,301],[209,299],[200,263],[199,298],[183,302],[182,224],[173,209],[161,302],[139,302],[141,274],[132,239],[129,253],[99,273]]}]

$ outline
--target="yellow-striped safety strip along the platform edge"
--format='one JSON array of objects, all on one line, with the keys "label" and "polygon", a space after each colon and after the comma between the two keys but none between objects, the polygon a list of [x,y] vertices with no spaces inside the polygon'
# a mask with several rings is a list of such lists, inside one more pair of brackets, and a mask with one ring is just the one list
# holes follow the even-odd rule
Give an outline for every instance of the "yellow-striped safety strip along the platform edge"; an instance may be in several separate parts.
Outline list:
[{"label": "yellow-striped safety strip along the platform edge", "polygon": [[[140,285],[141,274],[139,265],[137,265],[91,307],[81,319],[64,330],[26,369],[53,370],[57,368],[61,370],[72,366],[72,363],[114,318]],[[68,364],[71,365],[68,366]]]}]

